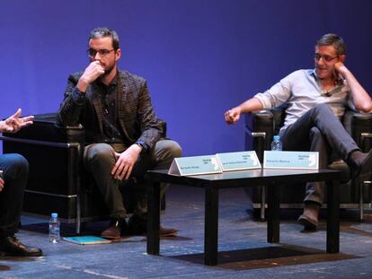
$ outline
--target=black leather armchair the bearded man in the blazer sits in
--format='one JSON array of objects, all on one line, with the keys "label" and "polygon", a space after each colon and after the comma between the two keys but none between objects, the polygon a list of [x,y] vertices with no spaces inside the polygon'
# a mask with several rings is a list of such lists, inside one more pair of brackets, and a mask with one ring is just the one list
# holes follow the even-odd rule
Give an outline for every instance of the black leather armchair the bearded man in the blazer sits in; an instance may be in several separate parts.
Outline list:
[{"label": "black leather armchair the bearded man in the blazer sits in", "polygon": [[[49,218],[57,212],[61,222],[75,223],[80,233],[82,222],[107,219],[107,209],[92,176],[82,167],[84,127],[58,126],[56,115],[36,115],[33,125],[1,136],[3,152],[20,153],[30,164],[22,214]],[[162,125],[165,136],[166,123]],[[130,183],[125,188],[130,191]],[[124,201],[128,212],[134,206],[130,200]]]}]

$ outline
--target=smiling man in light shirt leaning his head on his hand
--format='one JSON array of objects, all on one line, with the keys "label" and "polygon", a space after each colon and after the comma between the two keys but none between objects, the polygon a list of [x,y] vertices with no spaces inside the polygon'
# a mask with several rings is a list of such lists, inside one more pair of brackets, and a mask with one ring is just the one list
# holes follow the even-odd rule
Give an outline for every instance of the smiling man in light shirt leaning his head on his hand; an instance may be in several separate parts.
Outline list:
[{"label": "smiling man in light shirt leaning his head on his hand", "polygon": [[[326,168],[330,153],[338,153],[354,174],[372,170],[372,152],[361,153],[358,145],[345,131],[338,118],[345,107],[369,112],[371,98],[345,61],[345,43],[336,34],[325,34],[315,46],[311,70],[298,70],[283,78],[268,91],[229,109],[225,113],[228,124],[235,124],[242,113],[271,109],[288,104],[284,126],[279,135],[287,151],[319,152],[319,167]],[[305,230],[318,224],[323,203],[323,183],[308,183],[304,213],[298,218]]]}]

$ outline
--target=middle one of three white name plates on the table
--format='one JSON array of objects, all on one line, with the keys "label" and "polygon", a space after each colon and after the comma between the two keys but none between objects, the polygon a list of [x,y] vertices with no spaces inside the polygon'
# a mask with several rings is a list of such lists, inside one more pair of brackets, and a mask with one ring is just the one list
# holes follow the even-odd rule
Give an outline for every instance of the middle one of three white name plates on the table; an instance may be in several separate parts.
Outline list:
[{"label": "middle one of three white name plates on the table", "polygon": [[222,171],[260,169],[261,163],[254,151],[217,153]]}]

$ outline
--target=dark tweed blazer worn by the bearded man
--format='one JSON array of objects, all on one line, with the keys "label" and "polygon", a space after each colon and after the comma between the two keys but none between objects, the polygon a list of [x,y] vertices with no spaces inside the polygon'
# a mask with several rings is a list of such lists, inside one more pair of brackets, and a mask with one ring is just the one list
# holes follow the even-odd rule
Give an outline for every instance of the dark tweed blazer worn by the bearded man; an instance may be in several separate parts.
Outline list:
[{"label": "dark tweed blazer worn by the bearded man", "polygon": [[[103,111],[102,99],[97,83],[88,85],[81,93],[76,84],[83,72],[71,74],[65,91],[65,98],[58,109],[58,125],[75,126],[81,124],[85,130],[87,144],[102,142]],[[144,152],[153,148],[162,135],[162,126],[155,116],[146,80],[135,74],[118,70],[119,100],[118,119],[121,131],[129,143],[143,145]]]}]

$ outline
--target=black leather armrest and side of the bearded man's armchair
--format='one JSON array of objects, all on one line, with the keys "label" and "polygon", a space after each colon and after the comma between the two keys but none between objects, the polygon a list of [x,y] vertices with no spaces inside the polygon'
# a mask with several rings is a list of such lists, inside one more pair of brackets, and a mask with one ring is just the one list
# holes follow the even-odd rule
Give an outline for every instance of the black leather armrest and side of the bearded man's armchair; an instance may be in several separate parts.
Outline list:
[{"label": "black leather armrest and side of the bearded man's armchair", "polygon": [[29,161],[27,191],[65,198],[79,193],[84,128],[57,126],[55,116],[35,115],[33,125],[4,134],[3,152],[22,154]]}]

